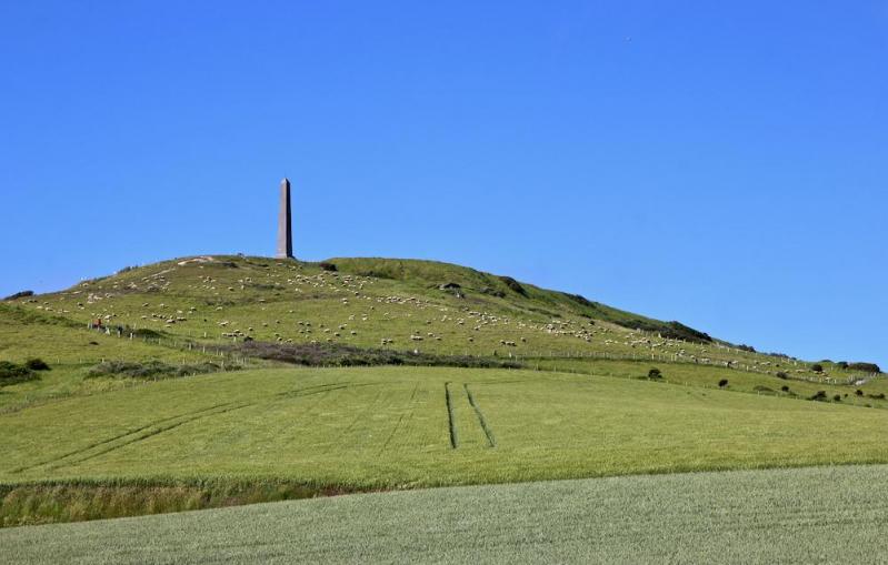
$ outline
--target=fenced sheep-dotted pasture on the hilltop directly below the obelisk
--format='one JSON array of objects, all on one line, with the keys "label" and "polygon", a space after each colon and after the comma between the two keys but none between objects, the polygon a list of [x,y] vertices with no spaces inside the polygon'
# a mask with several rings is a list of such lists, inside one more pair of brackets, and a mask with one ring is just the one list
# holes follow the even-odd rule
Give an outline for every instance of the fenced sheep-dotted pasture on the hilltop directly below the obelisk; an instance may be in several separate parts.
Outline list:
[{"label": "fenced sheep-dotted pasture on the hilltop directly below the obelisk", "polygon": [[7,317],[20,317],[13,314],[20,309],[66,324],[101,321],[127,335],[201,344],[255,340],[486,356],[598,354],[810,373],[810,364],[759,355],[680,322],[432,261],[196,256],[128,268],[4,304],[0,313]]}]

